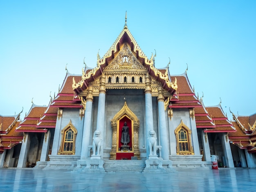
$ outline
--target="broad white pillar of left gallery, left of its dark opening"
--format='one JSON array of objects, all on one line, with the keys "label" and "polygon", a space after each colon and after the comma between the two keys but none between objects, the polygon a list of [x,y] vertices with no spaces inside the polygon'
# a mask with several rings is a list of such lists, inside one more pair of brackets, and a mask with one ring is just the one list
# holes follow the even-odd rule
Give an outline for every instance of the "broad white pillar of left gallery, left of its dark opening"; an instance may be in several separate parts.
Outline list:
[{"label": "broad white pillar of left gallery, left of its dark opening", "polygon": [[30,146],[30,134],[24,133],[17,168],[26,167],[29,146]]}]

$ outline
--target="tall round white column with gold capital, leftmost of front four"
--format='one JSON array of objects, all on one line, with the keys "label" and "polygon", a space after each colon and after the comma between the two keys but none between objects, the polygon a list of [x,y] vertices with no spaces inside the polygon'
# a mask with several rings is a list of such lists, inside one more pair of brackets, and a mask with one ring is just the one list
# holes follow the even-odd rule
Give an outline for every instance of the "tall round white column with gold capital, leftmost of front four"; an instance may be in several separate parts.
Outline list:
[{"label": "tall round white column with gold capital, leftmost of front four", "polygon": [[82,150],[81,160],[88,159],[88,147],[90,145],[90,132],[92,124],[92,87],[89,87],[88,95],[86,96],[86,108],[83,122],[83,138],[82,138]]}]

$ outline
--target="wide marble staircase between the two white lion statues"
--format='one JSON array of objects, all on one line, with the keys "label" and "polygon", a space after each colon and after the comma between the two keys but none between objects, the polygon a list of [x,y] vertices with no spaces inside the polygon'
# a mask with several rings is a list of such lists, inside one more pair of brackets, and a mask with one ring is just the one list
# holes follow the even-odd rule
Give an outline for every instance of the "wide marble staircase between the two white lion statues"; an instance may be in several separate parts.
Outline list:
[{"label": "wide marble staircase between the two white lion statues", "polygon": [[143,172],[145,160],[105,160],[103,168],[106,172]]}]

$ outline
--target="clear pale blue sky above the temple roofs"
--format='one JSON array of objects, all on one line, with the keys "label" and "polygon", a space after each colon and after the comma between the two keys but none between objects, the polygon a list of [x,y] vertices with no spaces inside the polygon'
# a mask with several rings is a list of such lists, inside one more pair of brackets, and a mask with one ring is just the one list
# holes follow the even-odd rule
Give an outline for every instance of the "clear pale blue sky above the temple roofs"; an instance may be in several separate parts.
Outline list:
[{"label": "clear pale blue sky above the temple roofs", "polygon": [[206,106],[256,113],[256,1],[0,1],[0,114],[48,105],[65,66],[95,67],[127,25],[155,66],[188,76]]}]

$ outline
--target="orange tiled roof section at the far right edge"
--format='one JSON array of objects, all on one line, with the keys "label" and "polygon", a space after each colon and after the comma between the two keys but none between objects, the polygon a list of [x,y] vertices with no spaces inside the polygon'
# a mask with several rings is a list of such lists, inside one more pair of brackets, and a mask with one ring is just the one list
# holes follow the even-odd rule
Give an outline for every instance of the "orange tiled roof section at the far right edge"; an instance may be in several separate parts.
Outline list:
[{"label": "orange tiled roof section at the far right edge", "polygon": [[256,114],[250,116],[236,116],[232,113],[232,124],[237,132],[230,133],[229,139],[240,149],[247,149],[249,153],[256,152]]}]

